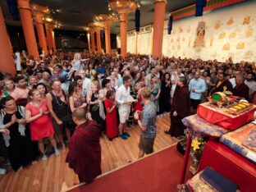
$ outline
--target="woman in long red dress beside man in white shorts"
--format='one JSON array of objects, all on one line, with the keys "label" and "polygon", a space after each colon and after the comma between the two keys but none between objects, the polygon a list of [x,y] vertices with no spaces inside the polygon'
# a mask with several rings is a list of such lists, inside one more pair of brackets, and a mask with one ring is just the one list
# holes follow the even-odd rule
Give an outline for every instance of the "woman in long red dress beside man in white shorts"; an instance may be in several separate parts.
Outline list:
[{"label": "woman in long red dress beside man in white shorts", "polygon": [[106,135],[112,141],[117,137],[117,101],[115,101],[116,93],[113,90],[108,90],[104,101],[106,115]]}]

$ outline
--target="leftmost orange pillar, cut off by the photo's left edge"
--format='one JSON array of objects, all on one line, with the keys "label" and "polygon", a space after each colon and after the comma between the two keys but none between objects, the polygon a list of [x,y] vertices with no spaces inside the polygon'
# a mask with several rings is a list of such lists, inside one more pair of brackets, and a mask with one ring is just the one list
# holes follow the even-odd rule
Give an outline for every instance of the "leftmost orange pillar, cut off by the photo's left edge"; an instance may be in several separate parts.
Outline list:
[{"label": "leftmost orange pillar, cut off by the photo's left edge", "polygon": [[2,16],[2,7],[0,7],[0,71],[2,73],[16,74],[16,68],[11,53],[10,38],[7,34],[7,27]]}]

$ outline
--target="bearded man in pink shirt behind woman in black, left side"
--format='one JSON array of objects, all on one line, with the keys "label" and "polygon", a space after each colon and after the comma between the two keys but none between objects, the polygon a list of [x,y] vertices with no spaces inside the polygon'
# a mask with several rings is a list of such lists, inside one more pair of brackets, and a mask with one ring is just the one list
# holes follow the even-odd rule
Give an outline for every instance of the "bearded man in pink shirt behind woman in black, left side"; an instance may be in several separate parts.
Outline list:
[{"label": "bearded man in pink shirt behind woman in black, left side", "polygon": [[17,105],[25,107],[30,89],[27,88],[27,81],[23,75],[16,76],[16,89],[11,93],[11,97],[16,100]]}]

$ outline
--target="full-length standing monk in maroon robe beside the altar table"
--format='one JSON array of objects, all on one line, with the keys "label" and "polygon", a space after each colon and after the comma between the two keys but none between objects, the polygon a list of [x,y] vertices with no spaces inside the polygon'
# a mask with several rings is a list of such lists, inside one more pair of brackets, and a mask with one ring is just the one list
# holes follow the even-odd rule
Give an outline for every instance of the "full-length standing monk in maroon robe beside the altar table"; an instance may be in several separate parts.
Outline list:
[{"label": "full-length standing monk in maroon robe beside the altar table", "polygon": [[171,103],[171,126],[165,133],[177,138],[183,136],[185,126],[181,120],[188,116],[190,116],[190,91],[185,85],[185,77],[180,77]]}]

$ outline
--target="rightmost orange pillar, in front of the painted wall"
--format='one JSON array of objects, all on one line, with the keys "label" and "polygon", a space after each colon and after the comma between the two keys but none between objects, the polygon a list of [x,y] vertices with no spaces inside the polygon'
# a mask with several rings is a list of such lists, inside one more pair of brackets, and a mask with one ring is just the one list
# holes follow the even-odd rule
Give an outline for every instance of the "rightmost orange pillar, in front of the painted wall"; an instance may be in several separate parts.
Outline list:
[{"label": "rightmost orange pillar, in front of the painted wall", "polygon": [[153,57],[162,58],[162,35],[167,0],[155,0],[153,13]]}]

